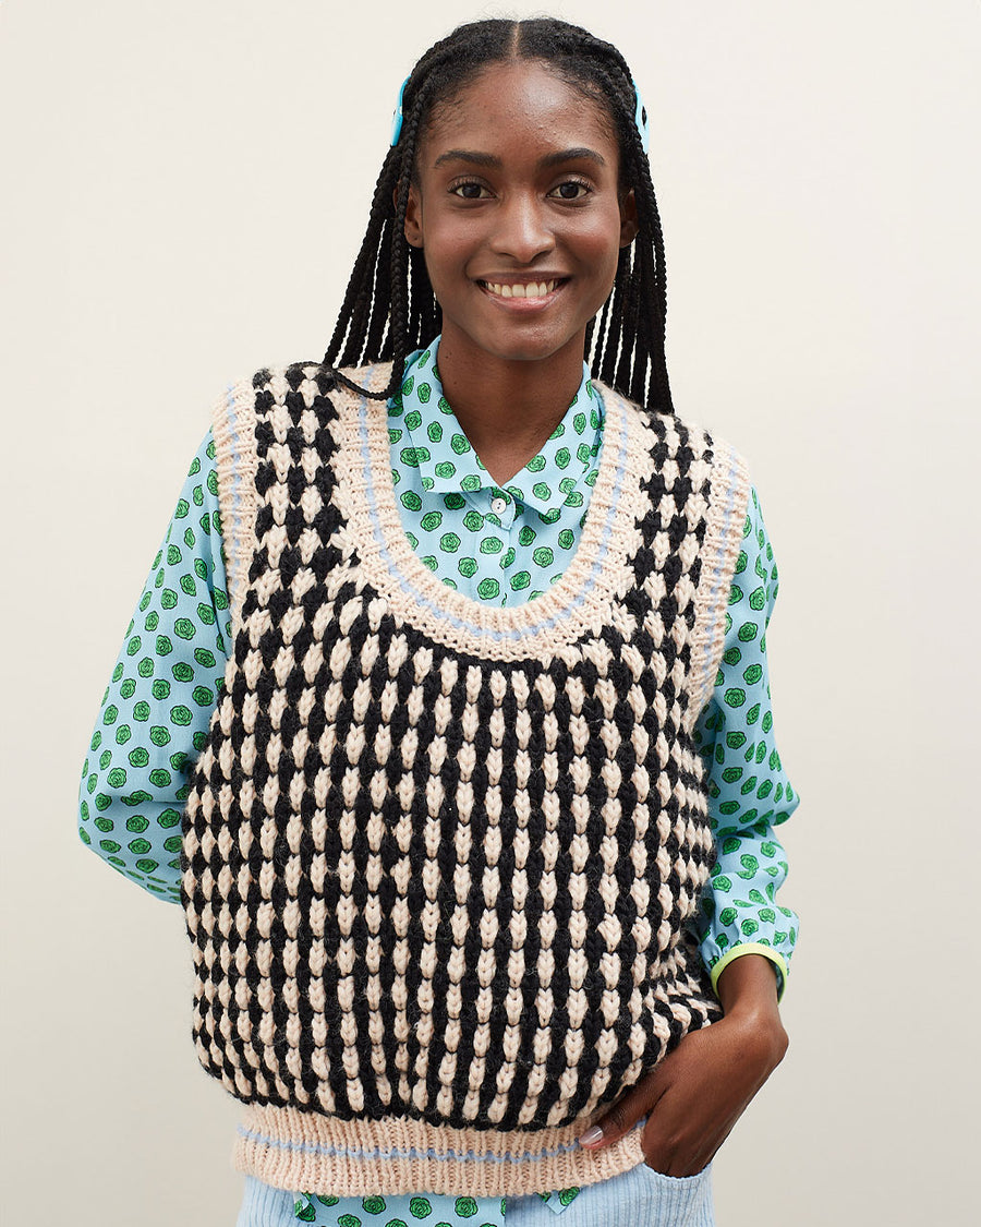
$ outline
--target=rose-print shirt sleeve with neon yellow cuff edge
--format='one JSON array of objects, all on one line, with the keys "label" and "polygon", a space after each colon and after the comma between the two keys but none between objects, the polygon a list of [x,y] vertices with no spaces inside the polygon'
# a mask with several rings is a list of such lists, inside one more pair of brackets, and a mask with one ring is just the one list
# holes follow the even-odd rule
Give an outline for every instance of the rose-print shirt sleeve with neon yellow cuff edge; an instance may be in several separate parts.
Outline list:
[{"label": "rose-print shirt sleeve with neon yellow cuff edge", "polygon": [[695,726],[708,772],[715,863],[693,925],[712,988],[733,958],[757,953],[773,961],[782,998],[798,919],[776,902],[787,860],[774,827],[786,822],[798,799],[776,750],[770,703],[766,628],[777,588],[774,551],[753,490],[722,660]]}]

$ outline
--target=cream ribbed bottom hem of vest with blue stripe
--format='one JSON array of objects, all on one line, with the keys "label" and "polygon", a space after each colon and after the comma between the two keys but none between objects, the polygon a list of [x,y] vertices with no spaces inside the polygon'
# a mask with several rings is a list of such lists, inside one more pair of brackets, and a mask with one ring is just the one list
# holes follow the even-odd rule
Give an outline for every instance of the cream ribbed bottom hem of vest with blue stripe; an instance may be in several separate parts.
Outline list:
[{"label": "cream ribbed bottom hem of vest with blue stripe", "polygon": [[[296,1108],[246,1104],[233,1166],[275,1188],[324,1196],[426,1191],[516,1198],[596,1184],[644,1162],[643,1121],[598,1151],[579,1145],[589,1125],[582,1120],[563,1129],[498,1133],[402,1117],[340,1120]],[[647,1171],[652,1179],[671,1179]]]}]

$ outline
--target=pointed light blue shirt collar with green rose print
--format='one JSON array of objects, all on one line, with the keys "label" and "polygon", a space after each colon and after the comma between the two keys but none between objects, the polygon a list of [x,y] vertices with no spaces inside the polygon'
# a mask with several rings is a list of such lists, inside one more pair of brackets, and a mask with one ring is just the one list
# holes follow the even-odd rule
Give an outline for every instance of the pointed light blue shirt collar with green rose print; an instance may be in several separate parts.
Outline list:
[{"label": "pointed light blue shirt collar with green rose print", "polygon": [[[406,360],[401,393],[389,401],[389,425],[403,432],[406,447],[400,455],[418,469],[424,490],[439,493],[488,493],[499,490],[481,458],[468,450],[451,449],[454,436],[464,431],[449,401],[437,367],[439,337],[426,350],[416,350]],[[586,415],[582,431],[576,431],[576,415]],[[582,379],[562,422],[546,439],[536,456],[511,477],[503,488],[514,498],[549,519],[567,502],[571,490],[596,467],[596,444],[602,434],[603,402],[592,385],[584,361]],[[444,442],[445,440],[445,442]],[[449,456],[452,459],[449,460]],[[449,463],[448,463],[449,460]],[[541,476],[540,476],[541,475]],[[559,482],[562,487],[559,488]]]}]

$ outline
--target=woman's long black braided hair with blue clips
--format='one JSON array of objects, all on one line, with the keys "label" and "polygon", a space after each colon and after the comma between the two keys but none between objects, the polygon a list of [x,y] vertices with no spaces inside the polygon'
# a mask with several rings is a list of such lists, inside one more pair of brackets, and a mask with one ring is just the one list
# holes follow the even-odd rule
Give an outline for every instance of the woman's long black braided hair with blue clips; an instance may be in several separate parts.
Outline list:
[{"label": "woman's long black braided hair with blue clips", "polygon": [[[538,60],[607,110],[620,150],[620,188],[633,188],[638,234],[620,248],[613,288],[586,329],[590,369],[622,395],[658,413],[673,412],[665,362],[665,244],[650,166],[634,117],[636,94],[623,55],[589,31],[553,17],[493,18],[459,26],[416,64],[402,96],[402,128],[375,184],[368,229],[345,293],[324,363],[336,367],[391,361],[386,400],[399,391],[406,357],[429,344],[443,313],[426,256],[405,237],[408,190],[427,124],[441,104],[489,64]],[[365,389],[358,388],[359,391]]]}]

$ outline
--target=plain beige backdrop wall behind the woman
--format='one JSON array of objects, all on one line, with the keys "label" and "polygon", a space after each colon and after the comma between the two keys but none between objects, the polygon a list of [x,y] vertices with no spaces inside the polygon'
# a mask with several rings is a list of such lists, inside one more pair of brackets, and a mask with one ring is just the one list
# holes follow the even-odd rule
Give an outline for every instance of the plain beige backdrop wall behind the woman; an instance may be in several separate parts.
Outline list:
[{"label": "plain beige backdrop wall behind the woman", "polygon": [[[782,574],[802,936],[788,1055],[716,1160],[720,1227],[968,1223],[977,7],[551,11],[641,83],[676,404],[749,458]],[[0,7],[11,1227],[234,1222],[235,1107],[191,1044],[181,913],[83,848],[77,779],[215,396],[323,353],[400,81],[499,12]]]}]

